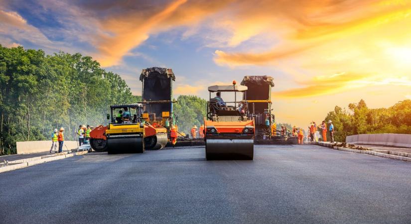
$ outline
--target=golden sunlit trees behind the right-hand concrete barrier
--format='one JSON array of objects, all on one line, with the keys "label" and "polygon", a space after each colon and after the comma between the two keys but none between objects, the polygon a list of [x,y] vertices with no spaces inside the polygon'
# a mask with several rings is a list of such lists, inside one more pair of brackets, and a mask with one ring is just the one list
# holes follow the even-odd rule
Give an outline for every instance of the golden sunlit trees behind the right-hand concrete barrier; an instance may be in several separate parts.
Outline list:
[{"label": "golden sunlit trees behind the right-hand concrete barrier", "polygon": [[379,109],[369,109],[361,100],[358,104],[349,104],[348,110],[336,106],[325,120],[333,121],[337,141],[345,141],[347,135],[354,134],[411,134],[411,100]]}]

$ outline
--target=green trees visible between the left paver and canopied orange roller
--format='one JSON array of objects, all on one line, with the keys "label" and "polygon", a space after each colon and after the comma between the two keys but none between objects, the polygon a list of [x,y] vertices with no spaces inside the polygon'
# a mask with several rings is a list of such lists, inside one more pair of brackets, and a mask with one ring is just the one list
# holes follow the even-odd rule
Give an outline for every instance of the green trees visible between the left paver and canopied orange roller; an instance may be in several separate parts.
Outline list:
[{"label": "green trees visible between the left paver and canopied orange roller", "polygon": [[193,125],[199,127],[204,124],[207,101],[196,96],[179,96],[174,104],[174,113],[177,114],[178,130],[190,133]]}]

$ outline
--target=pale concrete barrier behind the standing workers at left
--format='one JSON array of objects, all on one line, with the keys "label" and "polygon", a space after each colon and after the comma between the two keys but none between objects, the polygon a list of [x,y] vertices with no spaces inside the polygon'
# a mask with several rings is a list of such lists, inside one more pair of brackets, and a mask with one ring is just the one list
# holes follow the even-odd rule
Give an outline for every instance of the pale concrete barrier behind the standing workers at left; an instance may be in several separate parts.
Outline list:
[{"label": "pale concrete barrier behind the standing workers at left", "polygon": [[[51,147],[51,140],[48,141],[17,141],[17,154],[28,154],[36,152],[48,152]],[[64,141],[63,151],[77,149],[77,141]],[[66,148],[67,146],[67,148]]]}]

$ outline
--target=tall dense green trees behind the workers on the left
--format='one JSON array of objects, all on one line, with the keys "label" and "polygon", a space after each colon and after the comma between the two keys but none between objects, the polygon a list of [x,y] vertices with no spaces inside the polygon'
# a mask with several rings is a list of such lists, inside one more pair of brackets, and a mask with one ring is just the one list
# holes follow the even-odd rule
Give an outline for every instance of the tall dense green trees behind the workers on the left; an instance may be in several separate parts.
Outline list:
[{"label": "tall dense green trees behind the workers on the left", "polygon": [[16,141],[48,140],[54,128],[73,140],[78,125],[106,123],[108,105],[139,100],[91,57],[0,45],[0,155],[15,153]]}]

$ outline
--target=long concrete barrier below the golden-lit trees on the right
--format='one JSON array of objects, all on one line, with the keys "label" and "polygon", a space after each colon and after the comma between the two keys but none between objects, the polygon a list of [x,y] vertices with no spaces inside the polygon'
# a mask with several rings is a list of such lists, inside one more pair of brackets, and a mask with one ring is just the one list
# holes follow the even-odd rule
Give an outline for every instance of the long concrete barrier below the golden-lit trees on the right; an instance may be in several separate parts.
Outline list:
[{"label": "long concrete barrier below the golden-lit trees on the right", "polygon": [[411,134],[357,134],[347,136],[347,143],[411,148]]}]

